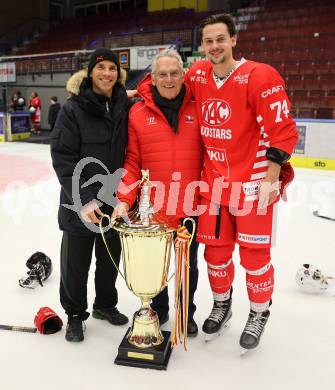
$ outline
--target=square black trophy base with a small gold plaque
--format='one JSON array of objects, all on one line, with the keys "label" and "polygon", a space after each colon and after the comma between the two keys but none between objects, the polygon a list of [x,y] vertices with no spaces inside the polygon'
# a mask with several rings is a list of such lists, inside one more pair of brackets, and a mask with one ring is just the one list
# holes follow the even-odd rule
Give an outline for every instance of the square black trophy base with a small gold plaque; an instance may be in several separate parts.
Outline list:
[{"label": "square black trophy base with a small gold plaque", "polygon": [[171,355],[171,332],[163,330],[164,341],[156,347],[137,348],[128,342],[129,331],[130,328],[119,346],[114,363],[121,366],[166,370]]}]

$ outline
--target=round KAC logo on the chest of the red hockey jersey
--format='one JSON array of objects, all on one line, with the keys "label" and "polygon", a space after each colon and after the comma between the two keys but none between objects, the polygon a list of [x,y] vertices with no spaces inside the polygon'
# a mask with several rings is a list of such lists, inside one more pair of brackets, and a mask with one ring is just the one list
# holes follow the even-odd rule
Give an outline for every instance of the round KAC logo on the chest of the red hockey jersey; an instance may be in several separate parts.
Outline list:
[{"label": "round KAC logo on the chest of the red hockey jersey", "polygon": [[202,105],[202,119],[209,126],[220,126],[231,116],[229,104],[220,99],[208,99]]}]

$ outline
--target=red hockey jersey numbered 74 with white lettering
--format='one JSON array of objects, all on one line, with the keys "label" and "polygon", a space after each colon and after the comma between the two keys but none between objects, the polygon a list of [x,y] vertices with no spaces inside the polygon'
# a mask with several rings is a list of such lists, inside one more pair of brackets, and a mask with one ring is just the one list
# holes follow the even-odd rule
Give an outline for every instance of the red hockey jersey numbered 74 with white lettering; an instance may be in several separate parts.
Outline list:
[{"label": "red hockey jersey numbered 74 with white lettering", "polygon": [[185,81],[197,102],[207,152],[202,179],[210,189],[201,195],[223,205],[257,199],[266,149],[291,154],[297,141],[283,79],[269,65],[241,60],[218,88],[206,60],[196,62]]}]

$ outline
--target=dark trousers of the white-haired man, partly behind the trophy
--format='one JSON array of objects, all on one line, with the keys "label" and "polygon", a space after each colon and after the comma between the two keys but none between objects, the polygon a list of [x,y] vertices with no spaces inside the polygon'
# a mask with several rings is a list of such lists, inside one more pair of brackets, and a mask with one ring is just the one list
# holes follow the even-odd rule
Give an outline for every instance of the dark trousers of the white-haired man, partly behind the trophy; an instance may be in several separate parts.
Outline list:
[{"label": "dark trousers of the white-haired man, partly behind the trophy", "polygon": [[[197,219],[193,218],[196,223]],[[186,221],[186,228],[189,232],[192,231],[192,224],[190,221]],[[197,226],[197,224],[196,224]],[[195,239],[196,232],[194,233],[194,238],[190,247],[190,285],[189,285],[189,316],[192,317],[196,311],[196,305],[194,303],[194,294],[198,286],[198,247],[199,243]],[[152,300],[151,307],[159,313],[159,315],[167,314],[169,311],[169,294],[168,287],[161,291],[155,298]]]}]

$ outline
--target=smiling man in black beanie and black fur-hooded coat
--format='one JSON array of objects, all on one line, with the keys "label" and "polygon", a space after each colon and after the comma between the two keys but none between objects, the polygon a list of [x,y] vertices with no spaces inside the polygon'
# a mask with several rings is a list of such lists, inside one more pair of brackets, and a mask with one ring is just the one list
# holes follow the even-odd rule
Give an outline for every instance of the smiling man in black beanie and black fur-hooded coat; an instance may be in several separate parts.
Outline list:
[{"label": "smiling man in black beanie and black fur-hooded coat", "polygon": [[[68,316],[68,341],[84,339],[83,321],[89,316],[87,280],[94,246],[96,295],[92,315],[114,325],[128,322],[116,308],[117,270],[96,225],[100,215],[111,215],[113,211],[112,186],[117,183],[113,183],[112,175],[122,167],[127,145],[130,104],[119,80],[116,53],[97,49],[87,72],[80,71],[69,80],[71,98],[59,112],[52,132],[51,156],[61,184],[60,301]],[[107,241],[113,258],[119,262],[118,234],[109,230]]]}]

